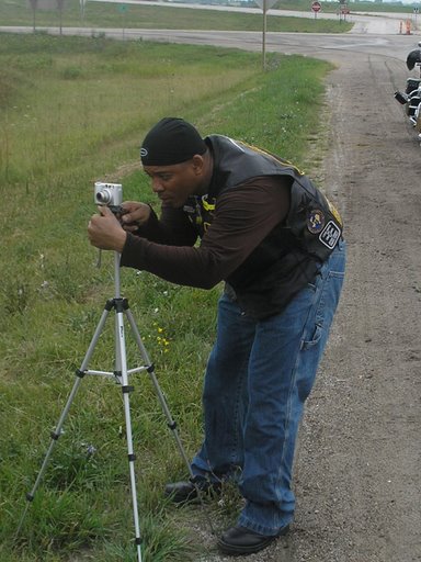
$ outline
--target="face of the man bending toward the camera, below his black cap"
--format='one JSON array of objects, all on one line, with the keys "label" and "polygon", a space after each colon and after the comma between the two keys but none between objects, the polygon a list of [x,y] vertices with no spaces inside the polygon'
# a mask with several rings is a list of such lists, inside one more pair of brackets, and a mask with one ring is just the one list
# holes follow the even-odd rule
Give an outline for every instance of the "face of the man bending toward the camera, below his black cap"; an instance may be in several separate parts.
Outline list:
[{"label": "face of the man bending toward the camera, below his black cap", "polygon": [[145,166],[144,170],[150,177],[152,190],[162,204],[181,207],[202,183],[203,159],[194,157],[171,166]]}]

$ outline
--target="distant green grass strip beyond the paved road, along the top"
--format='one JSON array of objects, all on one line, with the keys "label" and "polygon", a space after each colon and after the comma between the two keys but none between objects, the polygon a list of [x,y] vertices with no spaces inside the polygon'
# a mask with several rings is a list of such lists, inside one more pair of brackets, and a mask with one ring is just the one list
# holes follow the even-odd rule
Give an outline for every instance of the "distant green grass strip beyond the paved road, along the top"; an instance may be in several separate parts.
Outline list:
[{"label": "distant green grass strip beyond the paved road, along the top", "polygon": [[[291,9],[291,8],[289,8]],[[306,8],[308,10],[308,5]],[[308,10],[308,19],[280,18],[268,15],[270,32],[301,32],[301,33],[343,33],[352,24],[339,20],[315,19]],[[241,12],[218,12],[209,10],[182,9],[169,4],[140,5],[88,1],[83,15],[79,0],[67,0],[61,18],[57,9],[36,10],[34,13],[27,7],[26,0],[9,0],[0,4],[0,21],[2,25],[62,26],[82,25],[95,30],[98,27],[145,27],[169,30],[220,30],[220,31],[261,31],[262,15]]]}]

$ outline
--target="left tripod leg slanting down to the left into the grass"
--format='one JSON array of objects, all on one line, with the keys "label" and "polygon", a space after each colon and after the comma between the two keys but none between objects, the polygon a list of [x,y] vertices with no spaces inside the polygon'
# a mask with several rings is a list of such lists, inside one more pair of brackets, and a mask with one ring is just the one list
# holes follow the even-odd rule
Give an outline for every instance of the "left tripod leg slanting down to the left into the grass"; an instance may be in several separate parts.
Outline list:
[{"label": "left tripod leg slanting down to the left into the grass", "polygon": [[[39,469],[38,475],[37,475],[37,477],[35,480],[35,484],[34,484],[33,488],[31,490],[31,492],[29,492],[26,494],[26,499],[27,499],[29,503],[33,502],[33,499],[35,497],[35,493],[36,493],[36,491],[37,491],[37,488],[38,488],[38,486],[41,484],[41,481],[43,480],[44,473],[45,473],[45,471],[47,469],[47,465],[48,465],[49,458],[50,458],[50,456],[53,453],[54,446],[56,445],[57,440],[61,436],[62,426],[64,426],[65,420],[67,418],[67,415],[69,413],[70,406],[71,406],[71,404],[72,404],[72,402],[75,400],[75,396],[76,396],[76,394],[77,394],[77,392],[79,390],[80,383],[82,382],[82,378],[84,376],[84,372],[86,372],[88,363],[89,363],[89,361],[91,359],[92,352],[93,352],[93,350],[95,348],[98,338],[100,337],[100,334],[101,334],[101,331],[102,331],[102,329],[104,327],[104,324],[105,324],[105,321],[106,321],[106,316],[109,315],[109,312],[110,312],[110,310],[113,306],[114,306],[113,301],[107,301],[107,303],[105,305],[105,308],[104,308],[104,311],[102,313],[102,316],[100,318],[100,322],[99,322],[99,324],[96,326],[96,329],[95,329],[95,331],[94,331],[94,334],[92,336],[91,344],[90,344],[90,346],[88,348],[88,351],[87,351],[87,353],[84,356],[82,364],[81,364],[80,369],[78,369],[76,371],[77,379],[75,381],[73,387],[70,391],[70,394],[69,394],[69,397],[67,400],[67,403],[66,403],[66,405],[65,405],[65,407],[64,407],[64,409],[61,412],[61,415],[59,417],[57,426],[56,426],[55,430],[52,431],[52,434],[50,434],[52,441],[50,441],[48,450],[47,450],[47,452],[46,452],[46,454],[44,457],[44,461],[43,461],[42,467]],[[29,508],[29,504],[26,504],[26,507],[25,507],[25,509],[24,509],[24,512],[22,514],[22,517],[21,517],[21,520],[20,520],[20,524],[19,524],[19,527],[18,527],[16,536],[19,536],[19,533],[21,532],[22,525],[23,525],[24,518],[25,518],[26,513],[27,513],[27,508]]]}]

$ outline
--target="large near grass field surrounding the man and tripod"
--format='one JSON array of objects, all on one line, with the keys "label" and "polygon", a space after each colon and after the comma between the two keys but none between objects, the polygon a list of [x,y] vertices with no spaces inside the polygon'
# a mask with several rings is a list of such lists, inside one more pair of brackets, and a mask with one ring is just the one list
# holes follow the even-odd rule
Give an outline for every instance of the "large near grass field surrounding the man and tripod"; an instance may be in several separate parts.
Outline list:
[{"label": "large near grass field surrounding the man and tripod", "polygon": [[[37,471],[73,386],[106,299],[112,255],[86,228],[93,182],[121,181],[125,199],[155,204],[138,165],[146,131],[163,115],[194,122],[307,162],[320,131],[322,79],[330,66],[298,56],[112,42],[103,37],[3,34],[0,41],[0,560],[134,559],[125,419],[118,386],[86,378],[44,481],[15,532]],[[224,80],[220,76],[224,76]],[[171,414],[191,456],[200,445],[202,373],[220,288],[200,291],[145,272],[122,271]],[[113,370],[112,317],[90,368]],[[111,325],[109,325],[111,324]],[[127,331],[128,366],[138,351]],[[146,374],[130,379],[132,424],[145,562],[197,560],[192,510],[167,505],[167,481],[185,475]],[[238,502],[212,505],[232,520]],[[186,525],[183,525],[186,521]]]}]

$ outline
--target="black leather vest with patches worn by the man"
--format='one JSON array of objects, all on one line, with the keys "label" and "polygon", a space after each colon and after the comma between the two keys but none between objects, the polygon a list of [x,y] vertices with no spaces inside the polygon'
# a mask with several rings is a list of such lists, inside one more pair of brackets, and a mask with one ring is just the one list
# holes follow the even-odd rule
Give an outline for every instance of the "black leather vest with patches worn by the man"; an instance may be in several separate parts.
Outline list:
[{"label": "black leather vest with patches worn by the man", "polygon": [[295,293],[312,281],[342,236],[342,221],[328,199],[301,171],[278,156],[226,136],[206,137],[214,157],[208,192],[184,206],[202,237],[212,224],[218,196],[250,178],[291,179],[291,209],[226,280],[246,313],[264,318],[281,312]]}]

